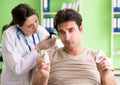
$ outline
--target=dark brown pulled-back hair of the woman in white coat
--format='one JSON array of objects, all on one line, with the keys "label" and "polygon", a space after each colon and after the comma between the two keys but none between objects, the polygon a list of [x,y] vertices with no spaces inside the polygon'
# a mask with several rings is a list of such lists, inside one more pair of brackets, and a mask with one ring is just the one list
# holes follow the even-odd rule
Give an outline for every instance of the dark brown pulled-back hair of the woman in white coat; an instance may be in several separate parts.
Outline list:
[{"label": "dark brown pulled-back hair of the woman in white coat", "polygon": [[18,4],[12,9],[11,14],[13,20],[9,26],[15,24],[22,26],[28,17],[37,15],[36,11],[28,4]]}]

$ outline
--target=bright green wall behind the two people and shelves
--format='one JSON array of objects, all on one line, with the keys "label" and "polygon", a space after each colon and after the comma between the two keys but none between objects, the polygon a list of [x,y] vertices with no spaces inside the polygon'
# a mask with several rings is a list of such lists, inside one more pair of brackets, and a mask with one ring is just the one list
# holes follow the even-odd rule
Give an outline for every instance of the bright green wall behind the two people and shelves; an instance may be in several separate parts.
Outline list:
[{"label": "bright green wall behind the two people and shelves", "polygon": [[[56,12],[62,4],[76,0],[49,0],[50,11]],[[83,17],[82,44],[84,47],[102,50],[107,57],[111,57],[111,29],[112,29],[112,0],[79,0],[79,12]],[[36,9],[41,23],[41,0],[0,0],[0,42],[2,41],[2,27],[11,22],[11,9],[19,3],[27,3]],[[117,35],[120,43],[120,35]],[[120,44],[115,44],[119,48]],[[114,56],[113,67],[120,69],[120,54]],[[0,63],[0,68],[2,68]]]}]

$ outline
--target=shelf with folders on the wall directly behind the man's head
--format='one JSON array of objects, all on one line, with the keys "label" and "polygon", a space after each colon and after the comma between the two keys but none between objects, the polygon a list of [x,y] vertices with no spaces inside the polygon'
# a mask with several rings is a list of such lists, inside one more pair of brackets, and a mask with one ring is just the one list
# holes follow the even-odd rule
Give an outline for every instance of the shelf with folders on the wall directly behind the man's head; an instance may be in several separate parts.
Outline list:
[{"label": "shelf with folders on the wall directly behind the man's head", "polygon": [[[53,30],[53,19],[58,10],[73,8],[78,11],[80,0],[40,0],[41,17],[40,22],[49,32]],[[59,4],[58,4],[59,3]],[[48,24],[50,23],[50,24]],[[52,26],[52,27],[51,27]]]}]

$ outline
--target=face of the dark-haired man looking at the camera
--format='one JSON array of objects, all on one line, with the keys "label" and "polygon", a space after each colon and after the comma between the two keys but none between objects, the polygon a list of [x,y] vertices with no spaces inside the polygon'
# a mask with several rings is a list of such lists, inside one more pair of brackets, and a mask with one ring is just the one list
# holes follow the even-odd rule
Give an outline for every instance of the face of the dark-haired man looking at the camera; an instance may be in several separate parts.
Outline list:
[{"label": "face of the dark-haired man looking at the camera", "polygon": [[82,26],[78,27],[75,21],[68,21],[58,25],[58,34],[64,47],[76,48],[80,45]]}]

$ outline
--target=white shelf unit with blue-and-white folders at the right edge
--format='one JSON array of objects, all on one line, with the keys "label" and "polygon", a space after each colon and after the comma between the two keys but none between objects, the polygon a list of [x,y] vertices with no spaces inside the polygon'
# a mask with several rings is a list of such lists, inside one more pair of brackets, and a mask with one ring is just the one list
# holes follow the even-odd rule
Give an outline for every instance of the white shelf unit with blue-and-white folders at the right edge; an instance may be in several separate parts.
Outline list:
[{"label": "white shelf unit with blue-and-white folders at the right edge", "polygon": [[120,0],[111,4],[111,58],[114,69],[120,69]]}]

